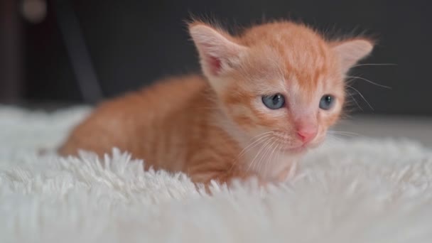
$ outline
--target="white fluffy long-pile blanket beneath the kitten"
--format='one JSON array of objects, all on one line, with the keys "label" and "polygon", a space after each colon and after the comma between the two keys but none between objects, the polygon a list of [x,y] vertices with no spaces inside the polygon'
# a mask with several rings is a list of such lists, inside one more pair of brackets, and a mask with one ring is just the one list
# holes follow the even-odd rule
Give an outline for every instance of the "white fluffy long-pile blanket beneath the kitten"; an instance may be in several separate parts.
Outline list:
[{"label": "white fluffy long-pile blanket beneath the kitten", "polygon": [[115,150],[38,156],[87,111],[0,107],[0,242],[432,242],[432,151],[414,142],[334,142],[282,185],[210,197]]}]

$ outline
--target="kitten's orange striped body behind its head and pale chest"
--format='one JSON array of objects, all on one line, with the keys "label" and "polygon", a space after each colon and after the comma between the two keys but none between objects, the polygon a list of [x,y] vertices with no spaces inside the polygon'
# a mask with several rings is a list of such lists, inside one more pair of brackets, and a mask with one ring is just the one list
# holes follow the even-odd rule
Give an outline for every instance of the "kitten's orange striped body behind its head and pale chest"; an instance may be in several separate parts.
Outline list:
[{"label": "kitten's orange striped body behind its head and pale chest", "polygon": [[[247,139],[232,138],[232,131],[223,125],[230,121],[215,100],[200,75],[162,80],[100,104],[72,131],[60,153],[75,154],[81,148],[102,156],[115,146],[144,158],[146,168],[184,171],[202,183],[257,175],[242,162],[257,151],[240,155]],[[289,162],[278,163],[281,168],[266,171],[262,177],[276,179],[286,172]]]}]

